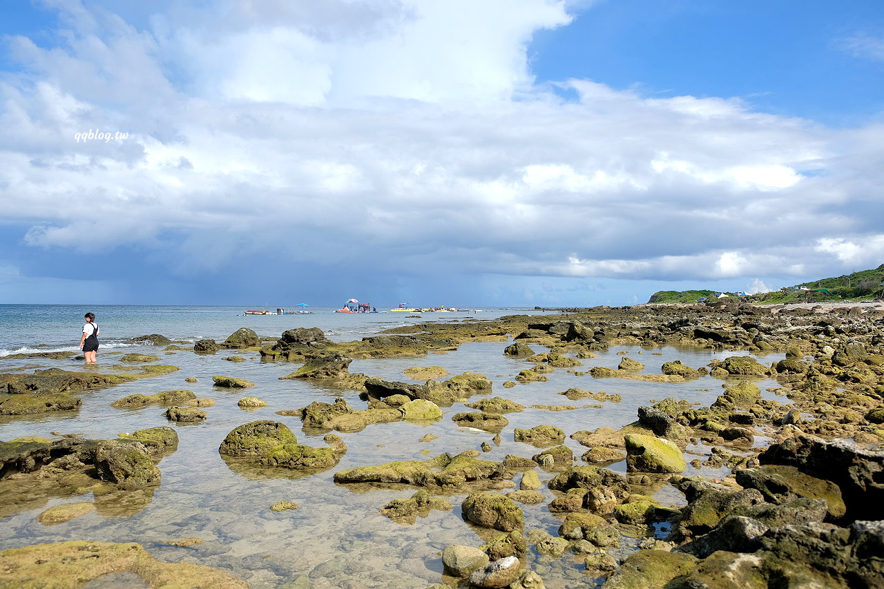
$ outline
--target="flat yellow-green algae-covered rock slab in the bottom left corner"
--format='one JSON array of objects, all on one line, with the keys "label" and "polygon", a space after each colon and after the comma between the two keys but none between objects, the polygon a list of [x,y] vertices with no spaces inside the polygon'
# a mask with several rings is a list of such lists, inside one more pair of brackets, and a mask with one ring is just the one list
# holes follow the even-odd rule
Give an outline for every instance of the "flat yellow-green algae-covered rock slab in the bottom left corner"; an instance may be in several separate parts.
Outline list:
[{"label": "flat yellow-green algae-covered rock slab in the bottom left corner", "polygon": [[190,562],[160,562],[141,544],[72,540],[0,551],[4,585],[18,589],[78,589],[122,571],[138,575],[151,589],[248,589],[245,581]]}]

